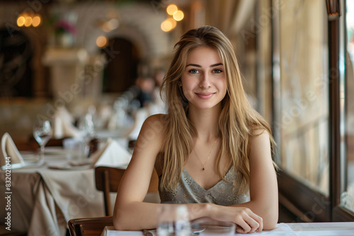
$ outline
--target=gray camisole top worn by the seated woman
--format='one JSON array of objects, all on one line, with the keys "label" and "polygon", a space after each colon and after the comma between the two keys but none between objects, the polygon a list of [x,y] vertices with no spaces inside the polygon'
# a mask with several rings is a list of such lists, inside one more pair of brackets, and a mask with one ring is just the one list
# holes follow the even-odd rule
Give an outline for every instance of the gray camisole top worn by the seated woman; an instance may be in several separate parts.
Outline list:
[{"label": "gray camisole top worn by the seated woman", "polygon": [[159,177],[159,195],[161,203],[215,203],[222,206],[231,206],[249,201],[249,194],[236,195],[234,179],[236,172],[230,168],[224,176],[228,182],[220,180],[210,189],[203,189],[183,168],[178,186],[173,191],[161,191]]}]

